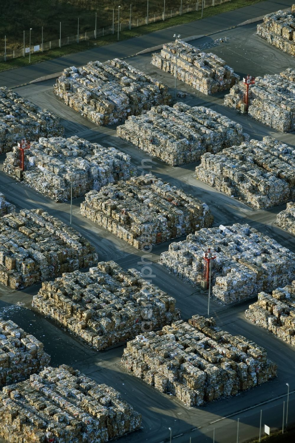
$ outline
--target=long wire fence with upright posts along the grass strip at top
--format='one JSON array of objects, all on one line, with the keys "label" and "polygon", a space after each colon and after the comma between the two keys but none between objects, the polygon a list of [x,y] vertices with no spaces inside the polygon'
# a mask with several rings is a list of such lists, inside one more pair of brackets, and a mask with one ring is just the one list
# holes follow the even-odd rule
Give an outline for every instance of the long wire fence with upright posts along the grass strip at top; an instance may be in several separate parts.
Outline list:
[{"label": "long wire fence with upright posts along the grass strip at top", "polygon": [[[165,19],[169,19],[172,17],[186,14],[188,12],[195,12],[195,11],[201,12],[202,9],[204,9],[204,8],[216,6],[217,4],[222,4],[222,3],[225,3],[228,1],[230,1],[230,0],[203,0],[203,5],[202,5],[202,0],[197,0],[195,2],[195,4],[193,4],[191,6],[188,5],[185,8],[182,8],[182,6],[180,6],[179,8],[174,8],[174,9],[165,8],[161,15],[149,13],[149,11],[147,9],[146,16],[145,17],[140,16],[139,18],[134,18],[134,16],[132,15],[132,9],[131,9],[129,21],[126,23],[126,21],[123,22],[120,20],[119,33],[120,33],[120,31],[126,31],[128,29],[133,29],[138,26],[143,26],[143,25],[147,25],[149,23],[159,22],[159,21],[162,21]],[[116,18],[115,18],[115,14],[116,14]],[[113,27],[114,27],[114,29],[113,29]],[[46,41],[46,42],[43,42],[42,36],[40,35],[39,42],[34,42],[34,45],[31,44],[29,46],[26,46],[25,44],[23,44],[22,47],[19,47],[19,49],[15,49],[14,51],[6,50],[6,43],[9,39],[9,37],[5,36],[4,52],[2,52],[2,51],[0,52],[0,62],[5,62],[8,60],[11,60],[12,58],[17,58],[17,57],[26,57],[26,56],[29,56],[30,53],[34,54],[34,53],[48,51],[50,49],[64,47],[67,45],[71,45],[71,44],[75,44],[75,43],[79,43],[79,42],[83,42],[83,41],[87,41],[87,40],[97,39],[99,37],[103,37],[104,35],[111,35],[111,34],[117,35],[118,34],[118,9],[116,9],[116,11],[114,11],[114,25],[111,24],[110,26],[106,26],[106,27],[96,29],[96,30],[94,29],[94,30],[86,31],[86,32],[79,33],[79,34],[78,34],[78,30],[79,30],[79,27],[77,26],[77,34],[68,35],[66,37],[62,37],[61,39],[53,39],[53,40]],[[61,22],[61,33],[60,34],[62,35],[62,22]],[[120,35],[119,35],[119,38],[120,38]]]}]

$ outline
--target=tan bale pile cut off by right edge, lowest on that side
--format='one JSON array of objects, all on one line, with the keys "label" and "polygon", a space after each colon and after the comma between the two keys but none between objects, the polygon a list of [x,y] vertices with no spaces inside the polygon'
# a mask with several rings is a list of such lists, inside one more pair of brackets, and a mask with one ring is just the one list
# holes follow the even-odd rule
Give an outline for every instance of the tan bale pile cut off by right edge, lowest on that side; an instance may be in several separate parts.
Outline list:
[{"label": "tan bale pile cut off by right edge, lowest on that side", "polygon": [[260,292],[258,301],[249,306],[245,316],[295,346],[295,280],[275,289],[272,295]]}]

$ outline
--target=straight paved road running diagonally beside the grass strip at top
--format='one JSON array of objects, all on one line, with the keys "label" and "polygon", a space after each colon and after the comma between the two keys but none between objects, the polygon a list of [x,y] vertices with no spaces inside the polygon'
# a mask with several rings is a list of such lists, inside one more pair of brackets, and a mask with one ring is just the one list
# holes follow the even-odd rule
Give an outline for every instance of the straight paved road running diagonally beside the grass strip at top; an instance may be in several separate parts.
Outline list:
[{"label": "straight paved road running diagonally beside the grass strip at top", "polygon": [[0,85],[11,88],[31,82],[43,75],[60,72],[68,66],[83,65],[90,60],[100,60],[103,62],[109,58],[128,57],[145,48],[171,41],[172,35],[175,32],[184,38],[191,35],[203,35],[221,31],[222,29],[236,26],[245,20],[260,17],[269,12],[277,11],[278,9],[288,8],[293,2],[293,0],[264,1],[251,6],[246,6],[245,8],[224,12],[203,20],[196,20],[191,23],[173,26],[140,37],[134,37],[133,39],[124,40],[123,42],[113,43],[111,45],[78,52],[76,54],[69,54],[36,65],[5,71],[0,73]]}]

